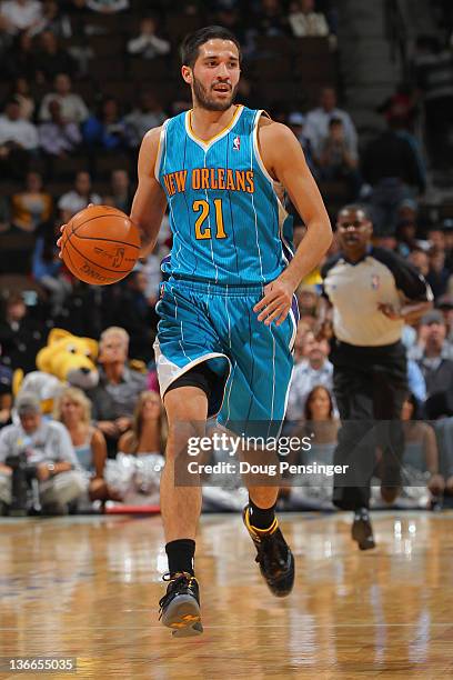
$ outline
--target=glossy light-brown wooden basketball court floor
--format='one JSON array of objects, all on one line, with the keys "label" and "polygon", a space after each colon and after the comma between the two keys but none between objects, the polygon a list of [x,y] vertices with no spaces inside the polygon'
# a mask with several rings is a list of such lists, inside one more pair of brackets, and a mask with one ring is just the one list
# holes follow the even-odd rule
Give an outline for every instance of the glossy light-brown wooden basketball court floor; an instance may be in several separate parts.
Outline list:
[{"label": "glossy light-brown wooden basketball court floor", "polygon": [[198,576],[205,632],[157,620],[159,517],[0,523],[0,657],[76,657],[77,674],[1,678],[453,678],[453,514],[376,512],[379,547],[349,514],[286,514],[293,593],[261,581],[239,516],[204,516]]}]

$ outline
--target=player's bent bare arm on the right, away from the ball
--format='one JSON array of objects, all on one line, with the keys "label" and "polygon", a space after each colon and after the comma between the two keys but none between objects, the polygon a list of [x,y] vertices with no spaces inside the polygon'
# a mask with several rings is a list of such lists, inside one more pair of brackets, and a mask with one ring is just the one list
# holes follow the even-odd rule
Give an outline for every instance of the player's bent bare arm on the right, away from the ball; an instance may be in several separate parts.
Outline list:
[{"label": "player's bent bare arm on the right, away from the ball", "polygon": [[319,264],[332,242],[332,228],[321,193],[309,170],[300,142],[286,126],[263,118],[259,127],[261,157],[269,174],[281,182],[306,226],[306,233],[286,269],[264,288],[253,308],[269,326],[283,323],[292,297],[304,277]]}]

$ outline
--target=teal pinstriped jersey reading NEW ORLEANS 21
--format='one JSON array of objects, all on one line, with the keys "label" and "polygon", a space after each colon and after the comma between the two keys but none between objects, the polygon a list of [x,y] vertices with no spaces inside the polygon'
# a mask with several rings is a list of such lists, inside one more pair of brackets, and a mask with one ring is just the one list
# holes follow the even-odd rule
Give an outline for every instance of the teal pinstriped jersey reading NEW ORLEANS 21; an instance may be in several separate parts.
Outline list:
[{"label": "teal pinstriped jersey reading NEW ORLEANS 21", "polygon": [[286,266],[291,218],[260,157],[263,113],[238,106],[230,124],[209,141],[194,134],[190,111],[164,122],[155,178],[167,194],[173,233],[162,264],[167,276],[256,286]]}]

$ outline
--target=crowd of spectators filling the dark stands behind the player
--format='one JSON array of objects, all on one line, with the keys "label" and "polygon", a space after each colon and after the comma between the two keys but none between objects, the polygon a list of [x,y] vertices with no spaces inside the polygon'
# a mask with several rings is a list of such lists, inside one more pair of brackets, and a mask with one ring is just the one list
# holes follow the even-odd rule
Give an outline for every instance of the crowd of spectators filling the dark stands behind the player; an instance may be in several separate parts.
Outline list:
[{"label": "crowd of spectators filling the dark stands behind the player", "polygon": [[[284,52],[284,46],[299,49],[294,44],[302,46],[304,40],[321,44],[321,53],[329,53],[331,60],[334,50],[341,49],[338,19],[334,3],[313,0],[195,0],[178,11],[167,0],[0,2],[0,266],[4,274],[0,278],[6,279],[0,314],[1,502],[11,499],[11,451],[4,442],[16,438],[22,442],[21,451],[33,448],[43,436],[44,423],[56,423],[58,431],[66,428],[71,451],[51,451],[53,469],[47,471],[42,457],[33,462],[41,469],[37,503],[53,510],[63,511],[62,506],[71,507],[83,494],[91,501],[123,499],[124,489],[114,483],[118,470],[109,468],[109,462],[119,453],[132,458],[163,453],[165,423],[152,343],[160,261],[171,248],[168,218],[155,251],[123,282],[111,287],[76,280],[58,258],[56,238],[60,224],[88,203],[129,212],[143,134],[190,107],[182,86],[163,87],[165,78],[178,78],[178,41],[185,30],[207,21],[231,28],[242,40],[245,76],[238,99],[260,107],[262,98],[270,113],[291,127],[333,224],[341,204],[366,202],[375,243],[409,258],[429,281],[434,309],[404,332],[411,388],[404,411],[410,423],[407,451],[414,456],[419,446],[422,453],[416,466],[426,472],[434,496],[453,493],[453,222],[423,210],[425,157],[414,131],[423,110],[431,159],[436,162],[439,140],[452,117],[443,103],[430,102],[439,104],[440,97],[444,103],[453,101],[453,78],[451,91],[435,91],[440,61],[431,58],[433,44],[421,38],[412,81],[381,107],[386,129],[363,142],[339,104],[335,68],[330,66],[328,74],[320,71],[302,98],[290,90],[290,100],[283,99],[275,83],[266,87],[265,77],[272,74],[266,69],[273,68],[275,59],[272,50],[281,50],[276,66],[283,71],[285,63],[293,63],[291,59],[299,64],[295,52]],[[109,51],[110,43],[120,51]],[[309,68],[315,70],[316,63],[310,61]],[[104,88],[109,80],[118,88]],[[289,210],[292,212],[291,206]],[[303,233],[294,214],[295,246]],[[338,248],[334,240],[328,257]],[[22,276],[19,287],[16,274]],[[321,319],[325,322],[321,293],[318,269],[298,290],[301,321],[288,420],[310,422],[311,428],[331,422],[329,437],[323,429],[330,441],[321,437],[320,446],[333,447],[338,420],[330,344],[319,339]],[[41,414],[42,404],[30,394],[13,406],[13,374],[36,370],[36,356],[51,328],[100,342],[97,387],[85,392],[73,387],[63,390],[56,400],[53,419]],[[414,426],[420,418],[434,427],[422,421]],[[128,463],[122,464],[125,469]],[[80,474],[64,478],[74,471]],[[69,481],[59,484],[59,478]]]}]

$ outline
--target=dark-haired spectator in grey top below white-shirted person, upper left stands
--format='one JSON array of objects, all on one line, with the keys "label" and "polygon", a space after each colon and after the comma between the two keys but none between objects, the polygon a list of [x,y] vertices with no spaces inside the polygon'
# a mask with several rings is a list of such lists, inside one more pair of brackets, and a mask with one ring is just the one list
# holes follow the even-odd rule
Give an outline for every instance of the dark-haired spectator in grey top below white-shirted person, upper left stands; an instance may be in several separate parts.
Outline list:
[{"label": "dark-haired spectator in grey top below white-shirted person, upper left stands", "polygon": [[64,120],[58,99],[49,101],[49,112],[50,120],[38,128],[40,147],[48,156],[64,158],[76,151],[82,141],[79,126]]}]

